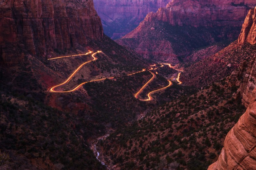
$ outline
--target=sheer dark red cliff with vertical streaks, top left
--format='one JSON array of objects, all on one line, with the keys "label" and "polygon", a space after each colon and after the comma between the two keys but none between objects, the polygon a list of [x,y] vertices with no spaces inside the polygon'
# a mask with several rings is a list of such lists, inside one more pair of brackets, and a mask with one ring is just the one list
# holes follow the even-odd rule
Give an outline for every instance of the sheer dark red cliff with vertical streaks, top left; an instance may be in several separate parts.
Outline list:
[{"label": "sheer dark red cliff with vertical streaks, top left", "polygon": [[92,0],[0,1],[0,58],[17,63],[24,53],[49,57],[103,37]]}]

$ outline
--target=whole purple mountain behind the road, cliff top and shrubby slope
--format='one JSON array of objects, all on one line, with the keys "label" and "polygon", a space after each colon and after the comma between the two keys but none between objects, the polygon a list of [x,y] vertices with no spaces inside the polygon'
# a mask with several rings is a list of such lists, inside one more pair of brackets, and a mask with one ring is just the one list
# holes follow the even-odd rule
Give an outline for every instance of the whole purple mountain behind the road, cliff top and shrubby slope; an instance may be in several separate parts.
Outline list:
[{"label": "whole purple mountain behind the road, cliff top and shrubby slope", "polygon": [[149,13],[137,28],[117,42],[145,58],[176,64],[198,48],[235,40],[247,12],[255,5],[250,0],[172,1],[166,8]]}]

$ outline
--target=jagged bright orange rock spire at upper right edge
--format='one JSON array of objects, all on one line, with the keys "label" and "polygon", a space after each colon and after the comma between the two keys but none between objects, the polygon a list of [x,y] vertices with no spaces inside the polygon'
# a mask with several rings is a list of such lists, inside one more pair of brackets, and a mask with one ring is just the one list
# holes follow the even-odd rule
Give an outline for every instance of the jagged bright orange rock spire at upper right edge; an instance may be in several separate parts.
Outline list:
[{"label": "jagged bright orange rock spire at upper right edge", "polygon": [[240,44],[245,42],[256,43],[256,7],[251,9],[245,18],[241,34],[238,38]]}]

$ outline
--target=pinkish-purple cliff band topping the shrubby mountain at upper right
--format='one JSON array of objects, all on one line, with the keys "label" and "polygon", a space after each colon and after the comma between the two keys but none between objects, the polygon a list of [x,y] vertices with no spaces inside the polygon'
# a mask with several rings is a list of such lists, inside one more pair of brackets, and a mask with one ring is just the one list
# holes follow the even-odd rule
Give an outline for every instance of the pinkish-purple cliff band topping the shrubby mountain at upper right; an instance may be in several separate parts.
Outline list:
[{"label": "pinkish-purple cliff band topping the shrubby mountain at upper right", "polygon": [[159,20],[172,26],[240,26],[255,5],[255,0],[173,0],[166,8],[148,14],[145,21]]}]

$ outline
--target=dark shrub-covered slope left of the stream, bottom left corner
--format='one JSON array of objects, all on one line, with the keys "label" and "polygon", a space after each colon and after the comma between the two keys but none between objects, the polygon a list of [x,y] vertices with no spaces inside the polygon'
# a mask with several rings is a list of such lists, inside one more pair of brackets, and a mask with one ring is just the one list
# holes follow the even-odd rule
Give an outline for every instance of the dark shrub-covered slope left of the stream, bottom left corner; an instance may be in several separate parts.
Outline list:
[{"label": "dark shrub-covered slope left of the stream, bottom left corner", "polygon": [[76,128],[76,115],[2,91],[0,112],[0,149],[9,155],[9,169],[106,169]]}]

